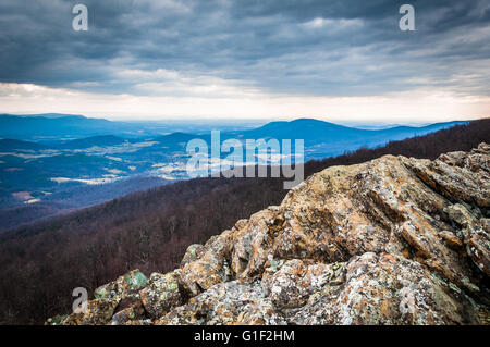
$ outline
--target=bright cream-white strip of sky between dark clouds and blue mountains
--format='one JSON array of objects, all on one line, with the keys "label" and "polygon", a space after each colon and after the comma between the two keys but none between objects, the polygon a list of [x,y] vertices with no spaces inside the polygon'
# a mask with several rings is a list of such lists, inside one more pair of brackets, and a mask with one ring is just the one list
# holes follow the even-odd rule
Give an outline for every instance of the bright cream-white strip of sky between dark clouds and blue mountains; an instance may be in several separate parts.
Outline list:
[{"label": "bright cream-white strip of sky between dark clouds and blue mountains", "polygon": [[362,97],[316,97],[241,90],[217,97],[91,94],[32,84],[0,83],[0,112],[83,114],[118,121],[292,120],[444,122],[488,117],[490,97],[419,88]]}]

